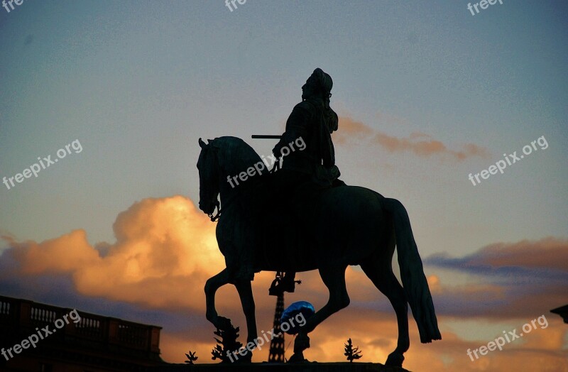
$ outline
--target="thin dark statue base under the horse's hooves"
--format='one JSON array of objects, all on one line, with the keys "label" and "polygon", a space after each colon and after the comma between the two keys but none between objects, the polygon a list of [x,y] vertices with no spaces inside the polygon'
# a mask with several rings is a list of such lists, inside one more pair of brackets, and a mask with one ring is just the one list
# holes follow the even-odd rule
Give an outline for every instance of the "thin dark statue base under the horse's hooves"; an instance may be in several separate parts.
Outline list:
[{"label": "thin dark statue base under the horse's hooves", "polygon": [[155,372],[410,372],[381,363],[242,363],[242,364],[170,364],[152,368]]}]

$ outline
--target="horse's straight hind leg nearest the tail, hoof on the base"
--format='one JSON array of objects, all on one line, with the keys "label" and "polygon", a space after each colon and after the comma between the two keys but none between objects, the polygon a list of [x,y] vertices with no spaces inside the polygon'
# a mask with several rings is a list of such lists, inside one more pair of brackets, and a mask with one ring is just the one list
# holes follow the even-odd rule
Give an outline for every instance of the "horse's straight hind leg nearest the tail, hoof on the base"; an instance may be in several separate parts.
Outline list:
[{"label": "horse's straight hind leg nearest the tail, hoof on the base", "polygon": [[404,361],[403,354],[410,346],[410,337],[408,336],[408,302],[403,286],[398,283],[390,260],[373,259],[369,263],[361,264],[361,268],[376,288],[383,292],[388,300],[391,301],[391,305],[393,305],[398,323],[398,342],[395,351],[388,356],[385,364],[387,366],[402,367]]}]

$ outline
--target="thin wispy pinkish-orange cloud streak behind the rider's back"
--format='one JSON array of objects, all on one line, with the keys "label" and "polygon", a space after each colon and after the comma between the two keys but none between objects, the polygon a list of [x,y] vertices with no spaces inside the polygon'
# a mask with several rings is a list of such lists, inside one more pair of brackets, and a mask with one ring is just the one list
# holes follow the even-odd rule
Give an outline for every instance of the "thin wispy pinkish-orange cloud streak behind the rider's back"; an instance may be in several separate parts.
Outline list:
[{"label": "thin wispy pinkish-orange cloud streak behind the rider's back", "polygon": [[465,160],[474,156],[487,158],[489,155],[486,148],[474,143],[466,143],[461,149],[452,150],[442,141],[437,141],[427,133],[414,132],[406,138],[390,136],[346,116],[339,117],[339,128],[341,130],[333,135],[334,142],[338,145],[346,145],[351,141],[356,141],[356,143],[368,141],[368,143],[378,145],[390,153],[410,152],[423,157],[446,155],[453,160]]}]

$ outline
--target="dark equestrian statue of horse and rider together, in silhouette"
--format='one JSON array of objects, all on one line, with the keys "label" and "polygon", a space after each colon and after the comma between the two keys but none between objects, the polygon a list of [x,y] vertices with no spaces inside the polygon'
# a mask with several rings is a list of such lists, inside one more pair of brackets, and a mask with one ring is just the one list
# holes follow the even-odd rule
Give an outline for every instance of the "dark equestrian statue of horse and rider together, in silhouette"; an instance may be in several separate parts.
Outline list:
[{"label": "dark equestrian statue of horse and rider together, in silhouette", "polygon": [[[205,284],[206,316],[217,329],[232,327],[230,319],[217,314],[215,293],[223,285],[235,285],[246,318],[247,344],[255,344],[254,274],[284,272],[283,288],[293,292],[295,273],[319,270],[329,300],[300,327],[289,360],[305,361],[308,334],[349,305],[345,270],[359,265],[393,305],[398,343],[386,365],[402,366],[410,346],[408,305],[420,341],[442,339],[432,295],[403,204],[339,180],[331,138],[338,128],[337,114],[329,106],[332,84],[327,73],[314,70],[268,159],[240,138],[224,136],[207,143],[200,138],[199,207],[212,221],[218,219],[217,243],[226,264]],[[269,160],[275,164],[272,171]],[[282,167],[274,171],[280,162]],[[402,285],[392,268],[395,247]],[[250,360],[251,352],[239,359]]]}]

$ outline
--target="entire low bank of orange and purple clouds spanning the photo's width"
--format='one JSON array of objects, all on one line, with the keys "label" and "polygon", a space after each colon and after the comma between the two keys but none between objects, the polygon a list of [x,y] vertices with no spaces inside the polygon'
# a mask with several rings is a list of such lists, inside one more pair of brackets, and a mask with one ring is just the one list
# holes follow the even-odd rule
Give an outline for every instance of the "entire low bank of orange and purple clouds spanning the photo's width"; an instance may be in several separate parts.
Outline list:
[{"label": "entire low bank of orange and purple clouds spanning the photo's width", "polygon": [[[155,322],[153,317],[148,323],[164,327],[160,345],[163,359],[182,363],[184,353],[192,350],[197,351],[200,363],[212,363],[214,327],[204,319],[203,285],[224,267],[215,241],[215,226],[190,199],[175,196],[143,199],[121,212],[113,225],[116,241],[111,243],[91,246],[83,230],[39,243],[18,242],[5,235],[9,248],[0,256],[0,284],[13,285],[14,280],[29,285],[45,282],[57,286],[58,295],[67,291],[64,295],[70,298],[78,294],[158,311],[163,314],[160,321]],[[411,346],[405,354],[405,368],[501,371],[515,366],[519,370],[538,370],[545,360],[555,371],[568,368],[564,346],[568,327],[562,327],[562,320],[548,312],[566,302],[567,252],[568,241],[547,238],[491,244],[463,258],[442,253],[424,258],[427,271],[435,272],[427,275],[427,280],[442,340],[420,344],[409,312]],[[471,279],[454,285],[432,268],[466,273]],[[54,279],[57,275],[60,278]],[[351,305],[310,334],[312,347],[305,355],[310,360],[344,361],[343,344],[351,338],[363,351],[361,361],[384,363],[398,337],[391,303],[359,267],[348,268],[345,276]],[[273,278],[274,273],[258,273],[252,282],[259,332],[273,325],[276,297],[268,296]],[[307,300],[316,310],[323,307],[329,294],[319,273],[297,273],[296,278],[302,284],[294,293],[286,293],[285,305]],[[217,310],[241,328],[243,341],[246,322],[234,286],[219,290]],[[125,311],[122,317],[130,319],[131,314],[131,310]],[[503,330],[520,327],[541,314],[546,314],[550,327],[535,329],[530,337],[474,362],[466,356],[467,349],[484,345]],[[494,332],[489,337],[471,337],[452,326],[465,320]],[[515,325],[506,325],[510,322]],[[293,337],[286,336],[286,345],[286,356],[290,357]],[[257,351],[253,361],[268,359],[268,349]],[[424,361],[428,361],[427,366]]]}]

